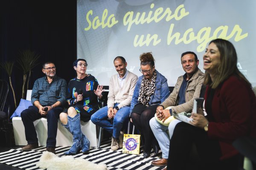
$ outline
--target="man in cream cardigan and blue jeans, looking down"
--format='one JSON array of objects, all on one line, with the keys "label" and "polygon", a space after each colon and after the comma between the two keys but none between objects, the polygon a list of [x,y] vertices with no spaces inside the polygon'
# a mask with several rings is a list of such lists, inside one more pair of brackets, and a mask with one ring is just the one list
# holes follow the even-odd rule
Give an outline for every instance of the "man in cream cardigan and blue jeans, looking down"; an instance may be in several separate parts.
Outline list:
[{"label": "man in cream cardigan and blue jeans, looking down", "polygon": [[[129,120],[131,99],[138,77],[126,69],[124,57],[114,59],[118,74],[109,82],[108,105],[91,116],[91,121],[112,135],[111,150],[122,147],[123,134],[120,135],[123,123]],[[113,120],[113,124],[109,119]]]}]

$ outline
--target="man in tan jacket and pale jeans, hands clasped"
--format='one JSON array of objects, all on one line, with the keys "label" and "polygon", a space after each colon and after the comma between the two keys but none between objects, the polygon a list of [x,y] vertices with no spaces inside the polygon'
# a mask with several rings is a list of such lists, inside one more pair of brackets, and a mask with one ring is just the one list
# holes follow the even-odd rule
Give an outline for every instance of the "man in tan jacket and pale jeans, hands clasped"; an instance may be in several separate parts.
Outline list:
[{"label": "man in tan jacket and pale jeans, hands clasped", "polygon": [[[172,113],[191,113],[193,100],[200,95],[204,82],[204,73],[198,68],[199,60],[194,52],[187,51],[181,54],[181,64],[186,72],[178,77],[177,83],[167,99],[157,107],[157,117],[161,121],[168,119]],[[171,109],[164,110],[169,106]],[[149,124],[162,150],[162,159],[152,161],[154,166],[166,166],[169,153],[169,144],[175,125],[180,122],[173,120],[168,126],[164,126],[153,117]],[[168,130],[168,131],[167,131]]]}]

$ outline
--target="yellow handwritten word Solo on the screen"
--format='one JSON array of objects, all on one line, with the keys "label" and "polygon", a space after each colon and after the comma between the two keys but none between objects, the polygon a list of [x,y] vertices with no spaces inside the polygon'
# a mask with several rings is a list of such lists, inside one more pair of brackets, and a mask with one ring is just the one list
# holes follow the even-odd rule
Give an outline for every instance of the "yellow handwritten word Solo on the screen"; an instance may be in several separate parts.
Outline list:
[{"label": "yellow handwritten word Solo on the screen", "polygon": [[[86,14],[86,21],[89,26],[84,28],[84,31],[90,30],[91,27],[93,29],[97,29],[99,26],[102,26],[102,28],[105,28],[106,26],[108,26],[108,28],[111,28],[113,25],[118,23],[118,20],[116,20],[116,17],[114,14],[111,14],[107,19],[108,9],[104,9],[104,11],[102,13],[102,20],[99,19],[99,16],[96,16],[93,18],[93,22],[91,22],[91,20],[89,18],[90,15],[93,15],[93,10],[88,11]],[[105,23],[106,19],[107,19],[107,22]]]}]

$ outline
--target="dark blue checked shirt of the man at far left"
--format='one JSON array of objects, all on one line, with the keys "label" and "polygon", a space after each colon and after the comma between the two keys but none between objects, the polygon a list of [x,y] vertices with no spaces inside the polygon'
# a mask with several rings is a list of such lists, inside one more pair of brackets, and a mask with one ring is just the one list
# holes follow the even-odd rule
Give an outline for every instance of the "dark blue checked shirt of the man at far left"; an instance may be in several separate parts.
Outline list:
[{"label": "dark blue checked shirt of the man at far left", "polygon": [[67,82],[60,77],[53,77],[52,82],[47,82],[47,77],[42,77],[35,81],[31,94],[31,102],[36,100],[42,106],[53,105],[57,101],[64,105],[67,97]]}]

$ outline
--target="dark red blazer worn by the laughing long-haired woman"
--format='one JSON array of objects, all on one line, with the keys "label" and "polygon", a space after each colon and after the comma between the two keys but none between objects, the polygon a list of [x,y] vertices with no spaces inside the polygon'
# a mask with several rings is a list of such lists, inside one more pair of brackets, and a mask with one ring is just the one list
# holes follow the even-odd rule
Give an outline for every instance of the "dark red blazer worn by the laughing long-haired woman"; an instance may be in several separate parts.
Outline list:
[{"label": "dark red blazer worn by the laughing long-haired woman", "polygon": [[240,136],[248,136],[253,111],[250,91],[243,80],[233,76],[216,88],[212,100],[215,122],[209,122],[209,138],[233,141]]}]

